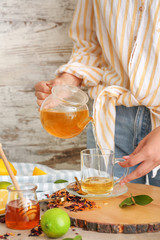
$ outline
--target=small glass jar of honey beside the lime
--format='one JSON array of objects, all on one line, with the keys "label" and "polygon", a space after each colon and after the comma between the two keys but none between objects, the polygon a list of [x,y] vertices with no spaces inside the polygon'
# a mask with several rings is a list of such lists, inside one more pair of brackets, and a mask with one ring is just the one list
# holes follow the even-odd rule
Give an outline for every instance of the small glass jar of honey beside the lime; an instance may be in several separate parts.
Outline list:
[{"label": "small glass jar of honey beside the lime", "polygon": [[39,224],[40,206],[37,200],[35,184],[19,184],[21,190],[14,185],[7,187],[8,202],[5,211],[5,223],[8,228],[24,230]]}]

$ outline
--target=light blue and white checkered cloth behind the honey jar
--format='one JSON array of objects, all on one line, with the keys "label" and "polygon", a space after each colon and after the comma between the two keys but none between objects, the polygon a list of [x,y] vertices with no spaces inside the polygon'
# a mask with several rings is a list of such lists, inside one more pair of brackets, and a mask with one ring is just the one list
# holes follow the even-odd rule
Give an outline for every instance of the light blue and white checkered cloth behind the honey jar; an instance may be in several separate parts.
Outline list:
[{"label": "light blue and white checkered cloth behind the honey jar", "polygon": [[[12,162],[12,164],[17,170],[16,179],[18,183],[34,183],[37,185],[38,200],[46,198],[45,194],[52,194],[57,190],[65,188],[70,182],[75,181],[75,176],[80,179],[80,171],[55,170],[41,164],[32,163]],[[35,166],[46,172],[47,175],[32,176]],[[59,179],[64,179],[68,182],[55,184],[54,182]],[[9,176],[0,176],[0,181],[12,182]]]}]

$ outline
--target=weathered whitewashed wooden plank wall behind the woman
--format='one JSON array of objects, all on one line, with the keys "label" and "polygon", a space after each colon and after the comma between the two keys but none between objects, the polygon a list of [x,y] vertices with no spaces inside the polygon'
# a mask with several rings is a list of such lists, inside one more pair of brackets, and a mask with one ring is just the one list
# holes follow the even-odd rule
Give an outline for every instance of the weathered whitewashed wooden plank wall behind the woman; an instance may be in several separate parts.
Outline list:
[{"label": "weathered whitewashed wooden plank wall behind the woman", "polygon": [[76,0],[0,0],[0,142],[10,161],[79,169],[86,132],[57,139],[39,120],[34,85],[68,61]]}]

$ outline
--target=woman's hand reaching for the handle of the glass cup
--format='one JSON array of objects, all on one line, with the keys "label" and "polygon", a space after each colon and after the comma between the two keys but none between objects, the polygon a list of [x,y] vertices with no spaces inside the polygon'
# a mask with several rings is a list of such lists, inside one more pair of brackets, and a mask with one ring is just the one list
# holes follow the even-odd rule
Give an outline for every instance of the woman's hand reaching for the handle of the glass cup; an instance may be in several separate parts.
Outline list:
[{"label": "woman's hand reaching for the handle of the glass cup", "polygon": [[123,157],[126,161],[120,162],[121,167],[132,167],[140,164],[132,173],[123,178],[121,185],[140,178],[160,165],[160,127],[150,132],[137,146],[132,154]]}]

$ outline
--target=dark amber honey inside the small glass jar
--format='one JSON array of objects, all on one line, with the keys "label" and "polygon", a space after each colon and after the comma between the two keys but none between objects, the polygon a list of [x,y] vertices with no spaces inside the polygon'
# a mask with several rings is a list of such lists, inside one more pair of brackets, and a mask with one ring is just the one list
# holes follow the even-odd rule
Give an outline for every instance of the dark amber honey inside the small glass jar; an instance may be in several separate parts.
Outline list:
[{"label": "dark amber honey inside the small glass jar", "polygon": [[37,201],[30,200],[30,206],[18,207],[19,200],[13,200],[6,206],[5,223],[11,229],[31,229],[39,224],[40,207]]}]

